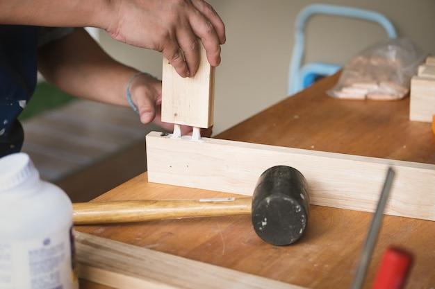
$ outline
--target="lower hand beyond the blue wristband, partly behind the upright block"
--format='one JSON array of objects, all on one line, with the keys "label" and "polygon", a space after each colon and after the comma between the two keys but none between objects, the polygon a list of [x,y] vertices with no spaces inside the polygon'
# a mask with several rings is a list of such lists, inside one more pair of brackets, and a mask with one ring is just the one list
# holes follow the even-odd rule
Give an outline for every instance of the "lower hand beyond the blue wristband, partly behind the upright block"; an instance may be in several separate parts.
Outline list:
[{"label": "lower hand beyond the blue wristband, partly behind the upright block", "polygon": [[[161,103],[162,103],[162,84],[161,81],[149,74],[140,74],[137,76],[130,87],[131,100],[138,107],[140,122],[147,124],[151,121],[163,128],[172,132],[174,130],[173,123],[164,123],[162,121]],[[180,125],[181,135],[192,134],[192,127],[188,125]],[[210,137],[212,128],[202,129],[202,137]]]}]

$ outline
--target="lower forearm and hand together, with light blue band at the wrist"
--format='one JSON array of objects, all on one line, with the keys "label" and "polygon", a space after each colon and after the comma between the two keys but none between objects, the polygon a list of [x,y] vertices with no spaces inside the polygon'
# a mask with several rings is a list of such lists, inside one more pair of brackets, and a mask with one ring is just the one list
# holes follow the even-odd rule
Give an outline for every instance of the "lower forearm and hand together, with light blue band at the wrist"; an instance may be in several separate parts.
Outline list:
[{"label": "lower forearm and hand together, with light blue band at the wrist", "polygon": [[[83,29],[47,44],[38,50],[38,69],[42,75],[69,94],[115,105],[129,105],[126,85],[138,71],[108,56]],[[161,82],[146,74],[131,83],[131,99],[138,109],[140,121],[172,130],[173,125],[161,122]],[[183,133],[191,131],[182,127]],[[202,132],[210,136],[211,130]]]}]

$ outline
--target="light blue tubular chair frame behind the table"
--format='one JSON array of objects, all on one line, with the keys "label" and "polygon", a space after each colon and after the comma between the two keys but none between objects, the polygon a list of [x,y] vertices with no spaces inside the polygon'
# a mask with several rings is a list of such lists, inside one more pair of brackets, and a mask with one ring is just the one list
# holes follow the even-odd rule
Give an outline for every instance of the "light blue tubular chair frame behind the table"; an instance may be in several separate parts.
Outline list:
[{"label": "light blue tubular chair frame behind the table", "polygon": [[325,62],[308,63],[301,67],[302,58],[304,57],[304,29],[306,21],[315,14],[336,15],[372,21],[382,26],[386,30],[388,37],[397,37],[393,24],[379,12],[329,4],[313,4],[306,6],[306,8],[299,12],[295,21],[295,44],[293,46],[292,59],[288,71],[288,95],[295,94],[309,87],[318,78],[330,76],[341,68],[338,64]]}]

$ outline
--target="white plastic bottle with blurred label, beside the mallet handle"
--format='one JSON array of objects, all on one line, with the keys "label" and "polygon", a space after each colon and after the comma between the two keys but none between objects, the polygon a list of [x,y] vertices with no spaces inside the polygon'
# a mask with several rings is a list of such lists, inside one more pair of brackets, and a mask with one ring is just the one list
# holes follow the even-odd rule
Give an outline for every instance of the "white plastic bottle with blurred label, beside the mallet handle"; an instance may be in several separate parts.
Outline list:
[{"label": "white plastic bottle with blurred label, beside the mallet handle", "polygon": [[72,204],[24,153],[0,158],[0,289],[76,289]]}]

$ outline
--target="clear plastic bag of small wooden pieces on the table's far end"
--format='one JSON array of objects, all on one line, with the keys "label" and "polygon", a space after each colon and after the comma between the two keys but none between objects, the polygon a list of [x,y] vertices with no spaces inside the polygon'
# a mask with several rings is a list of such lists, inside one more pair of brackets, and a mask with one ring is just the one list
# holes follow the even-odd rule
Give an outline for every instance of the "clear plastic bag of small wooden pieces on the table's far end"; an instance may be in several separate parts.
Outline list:
[{"label": "clear plastic bag of small wooden pieces on the table's far end", "polygon": [[416,44],[406,38],[380,42],[347,63],[330,96],[346,99],[397,100],[409,91],[411,77],[425,59]]}]

